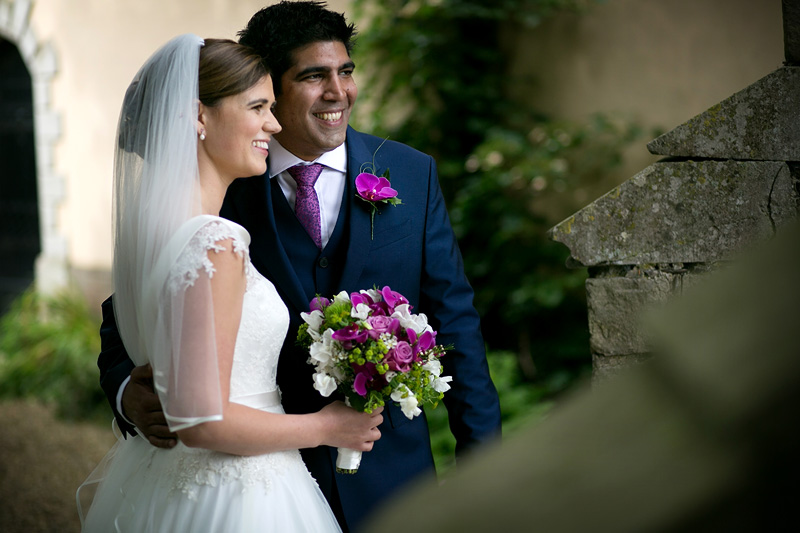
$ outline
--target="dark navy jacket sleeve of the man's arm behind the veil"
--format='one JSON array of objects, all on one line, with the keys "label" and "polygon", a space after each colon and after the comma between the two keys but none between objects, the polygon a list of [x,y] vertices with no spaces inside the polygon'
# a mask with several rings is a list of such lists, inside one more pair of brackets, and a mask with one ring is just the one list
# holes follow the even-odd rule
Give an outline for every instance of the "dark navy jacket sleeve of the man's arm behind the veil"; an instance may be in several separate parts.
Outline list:
[{"label": "dark navy jacket sleeve of the man's arm behind the veil", "polygon": [[103,302],[103,323],[100,325],[100,356],[97,366],[100,368],[100,386],[106,393],[111,410],[117,419],[117,424],[123,435],[136,435],[134,426],[129,424],[117,411],[117,393],[122,382],[131,375],[134,368],[133,361],[128,357],[122,338],[117,330],[117,321],[114,317],[112,297]]}]

